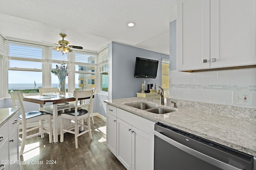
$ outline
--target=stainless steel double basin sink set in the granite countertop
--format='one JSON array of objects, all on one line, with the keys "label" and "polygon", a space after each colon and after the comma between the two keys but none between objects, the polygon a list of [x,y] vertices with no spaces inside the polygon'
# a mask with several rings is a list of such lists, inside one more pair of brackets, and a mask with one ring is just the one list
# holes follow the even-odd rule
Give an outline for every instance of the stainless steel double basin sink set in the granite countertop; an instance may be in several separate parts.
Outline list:
[{"label": "stainless steel double basin sink set in the granite countertop", "polygon": [[149,111],[151,113],[156,113],[156,114],[164,114],[164,113],[170,113],[170,112],[175,111],[172,109],[162,108],[162,107],[158,107],[154,104],[148,104],[148,103],[135,103],[135,104],[125,104],[125,105],[135,107],[137,109]]}]

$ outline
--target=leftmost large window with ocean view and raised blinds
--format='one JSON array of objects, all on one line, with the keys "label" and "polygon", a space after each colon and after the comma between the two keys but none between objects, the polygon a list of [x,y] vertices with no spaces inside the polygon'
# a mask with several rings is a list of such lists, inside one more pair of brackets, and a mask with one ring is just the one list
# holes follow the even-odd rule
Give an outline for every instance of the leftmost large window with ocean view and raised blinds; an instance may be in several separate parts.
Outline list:
[{"label": "leftmost large window with ocean view and raised blinds", "polygon": [[38,93],[42,87],[42,47],[9,43],[8,94],[10,90]]}]

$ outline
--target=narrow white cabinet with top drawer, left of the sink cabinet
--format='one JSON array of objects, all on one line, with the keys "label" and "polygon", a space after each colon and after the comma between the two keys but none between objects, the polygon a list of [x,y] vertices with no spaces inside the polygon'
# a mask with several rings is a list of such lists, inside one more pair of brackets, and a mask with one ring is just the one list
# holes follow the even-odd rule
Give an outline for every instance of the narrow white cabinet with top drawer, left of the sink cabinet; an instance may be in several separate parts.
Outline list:
[{"label": "narrow white cabinet with top drawer, left of the sink cabinet", "polygon": [[106,145],[116,156],[116,107],[107,105]]}]

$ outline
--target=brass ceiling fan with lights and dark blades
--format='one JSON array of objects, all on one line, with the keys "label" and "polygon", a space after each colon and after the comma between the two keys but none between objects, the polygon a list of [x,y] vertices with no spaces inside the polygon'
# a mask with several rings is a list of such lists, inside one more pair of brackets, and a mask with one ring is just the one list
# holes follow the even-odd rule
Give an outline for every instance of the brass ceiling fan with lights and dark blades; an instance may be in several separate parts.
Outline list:
[{"label": "brass ceiling fan with lights and dark blades", "polygon": [[[60,37],[62,37],[62,40],[58,41],[58,44],[53,43],[53,44],[58,45],[57,47],[52,47],[52,48],[55,48],[56,51],[62,51],[62,54],[66,54],[68,52],[72,52],[73,51],[72,49],[83,49],[83,47],[80,47],[80,46],[69,45],[70,42],[68,42],[67,40],[64,39],[67,37],[66,34],[60,33]],[[44,42],[47,42],[47,41],[44,41]],[[72,49],[70,49],[70,48],[72,48]]]}]

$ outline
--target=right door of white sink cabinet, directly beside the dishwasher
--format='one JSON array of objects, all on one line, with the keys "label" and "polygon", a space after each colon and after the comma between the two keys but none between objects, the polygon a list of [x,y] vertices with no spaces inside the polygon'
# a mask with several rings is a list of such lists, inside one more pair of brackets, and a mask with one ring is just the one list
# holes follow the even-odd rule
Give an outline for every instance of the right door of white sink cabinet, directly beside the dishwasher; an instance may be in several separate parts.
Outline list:
[{"label": "right door of white sink cabinet, directly beside the dishwasher", "polygon": [[152,170],[154,167],[154,137],[132,127],[132,169]]}]

